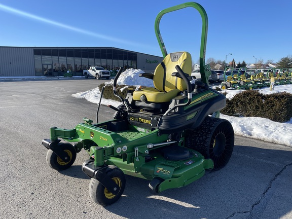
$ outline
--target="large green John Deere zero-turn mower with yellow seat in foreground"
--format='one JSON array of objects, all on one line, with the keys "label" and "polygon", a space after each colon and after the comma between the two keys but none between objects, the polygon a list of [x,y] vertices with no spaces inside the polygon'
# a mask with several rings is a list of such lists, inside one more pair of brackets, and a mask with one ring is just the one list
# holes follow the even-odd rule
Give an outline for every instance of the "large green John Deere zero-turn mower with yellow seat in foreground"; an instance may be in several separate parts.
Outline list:
[{"label": "large green John Deere zero-turn mower with yellow seat in foreground", "polygon": [[[202,81],[190,83],[192,58],[188,52],[167,54],[159,23],[166,13],[195,8],[202,17],[200,72]],[[69,168],[82,149],[88,160],[83,172],[91,180],[89,192],[94,202],[109,205],[123,194],[125,175],[150,180],[155,193],[187,186],[202,177],[206,169],[218,170],[229,161],[234,147],[234,131],[229,121],[220,119],[226,105],[225,95],[209,88],[209,65],[205,65],[208,20],[197,3],[185,3],[161,11],[155,21],[155,33],[164,56],[154,74],[139,76],[153,80],[154,86],[129,91],[114,119],[93,124],[84,118],[73,129],[52,127],[47,162],[56,170]],[[102,92],[101,92],[102,93]],[[61,142],[59,139],[67,141]],[[74,143],[71,144],[71,143]]]}]

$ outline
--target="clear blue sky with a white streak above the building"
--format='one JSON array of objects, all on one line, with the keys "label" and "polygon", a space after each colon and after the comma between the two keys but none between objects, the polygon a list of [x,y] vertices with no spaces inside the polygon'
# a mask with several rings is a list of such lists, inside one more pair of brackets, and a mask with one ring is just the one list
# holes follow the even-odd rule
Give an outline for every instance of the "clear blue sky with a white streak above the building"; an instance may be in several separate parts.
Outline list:
[{"label": "clear blue sky with a white streak above the building", "polygon": [[[0,46],[117,47],[162,56],[156,16],[186,2],[0,0]],[[265,63],[292,55],[292,1],[196,2],[208,15],[206,59]],[[201,18],[195,9],[164,15],[160,31],[168,53],[188,51],[198,61]]]}]

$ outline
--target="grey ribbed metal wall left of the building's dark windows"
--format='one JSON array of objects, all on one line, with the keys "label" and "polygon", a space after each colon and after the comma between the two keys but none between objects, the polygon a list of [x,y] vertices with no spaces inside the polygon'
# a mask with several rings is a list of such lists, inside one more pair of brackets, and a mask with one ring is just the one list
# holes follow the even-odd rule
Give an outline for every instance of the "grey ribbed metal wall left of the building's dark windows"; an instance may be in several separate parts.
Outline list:
[{"label": "grey ribbed metal wall left of the building's dark windows", "polygon": [[35,76],[33,48],[0,47],[0,77]]}]

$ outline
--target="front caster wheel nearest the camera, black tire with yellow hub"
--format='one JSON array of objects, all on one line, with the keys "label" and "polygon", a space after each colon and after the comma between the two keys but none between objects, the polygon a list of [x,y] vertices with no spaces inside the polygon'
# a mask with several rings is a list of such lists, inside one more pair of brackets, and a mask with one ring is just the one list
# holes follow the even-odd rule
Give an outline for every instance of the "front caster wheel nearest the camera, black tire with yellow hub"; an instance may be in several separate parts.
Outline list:
[{"label": "front caster wheel nearest the camera, black tire with yellow hub", "polygon": [[111,205],[119,200],[122,196],[126,178],[121,169],[116,166],[109,165],[106,174],[112,178],[114,182],[120,187],[120,191],[117,195],[109,192],[97,179],[91,178],[89,183],[89,194],[92,200],[102,206]]}]

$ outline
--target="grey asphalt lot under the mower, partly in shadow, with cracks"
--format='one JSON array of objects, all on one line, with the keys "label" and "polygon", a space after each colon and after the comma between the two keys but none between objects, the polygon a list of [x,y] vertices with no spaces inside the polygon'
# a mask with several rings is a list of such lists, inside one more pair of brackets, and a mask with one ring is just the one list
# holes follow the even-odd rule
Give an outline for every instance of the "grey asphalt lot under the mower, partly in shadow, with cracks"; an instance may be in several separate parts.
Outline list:
[{"label": "grey asphalt lot under the mower, partly in shadow, with cracks", "polygon": [[[0,218],[292,218],[292,148],[236,136],[228,165],[189,186],[153,195],[148,180],[126,176],[115,204],[95,204],[81,165],[51,169],[49,128],[96,121],[97,105],[71,94],[105,80],[0,81]],[[100,121],[114,111],[100,107]]]}]

